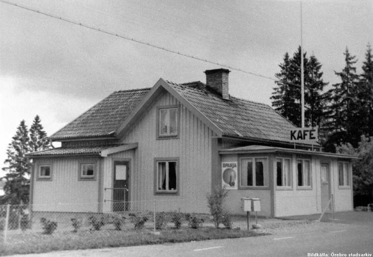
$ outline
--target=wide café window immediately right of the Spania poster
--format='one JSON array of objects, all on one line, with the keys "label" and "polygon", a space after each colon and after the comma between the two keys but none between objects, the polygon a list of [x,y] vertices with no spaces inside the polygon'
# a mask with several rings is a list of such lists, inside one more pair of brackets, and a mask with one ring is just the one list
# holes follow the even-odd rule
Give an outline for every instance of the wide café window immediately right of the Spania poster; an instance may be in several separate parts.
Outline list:
[{"label": "wide caf\u00e9 window immediately right of the Spania poster", "polygon": [[268,186],[267,158],[242,158],[240,165],[240,186]]}]

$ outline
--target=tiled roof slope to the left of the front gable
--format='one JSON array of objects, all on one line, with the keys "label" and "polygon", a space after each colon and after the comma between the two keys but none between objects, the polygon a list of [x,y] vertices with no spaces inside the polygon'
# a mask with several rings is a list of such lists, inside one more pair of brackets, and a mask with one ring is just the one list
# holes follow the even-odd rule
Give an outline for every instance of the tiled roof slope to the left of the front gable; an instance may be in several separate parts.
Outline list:
[{"label": "tiled roof slope to the left of the front gable", "polygon": [[100,101],[51,139],[113,136],[115,129],[130,115],[150,88],[117,91]]}]

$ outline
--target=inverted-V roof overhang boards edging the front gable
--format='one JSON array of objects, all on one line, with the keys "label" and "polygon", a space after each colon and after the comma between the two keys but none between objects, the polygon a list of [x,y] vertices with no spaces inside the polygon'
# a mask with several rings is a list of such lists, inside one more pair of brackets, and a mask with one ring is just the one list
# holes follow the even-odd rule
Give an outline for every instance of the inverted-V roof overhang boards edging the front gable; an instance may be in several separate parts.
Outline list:
[{"label": "inverted-V roof overhang boards edging the front gable", "polygon": [[173,89],[164,79],[160,78],[145,98],[140,102],[135,111],[124,121],[124,123],[116,130],[117,138],[121,138],[124,133],[131,128],[137,121],[138,118],[154,104],[155,100],[164,92],[169,92],[175,97],[181,104],[183,104],[189,111],[204,122],[217,136],[222,136],[223,131],[218,128],[213,122],[205,117],[198,109],[190,104],[187,99],[180,95],[175,89]]}]

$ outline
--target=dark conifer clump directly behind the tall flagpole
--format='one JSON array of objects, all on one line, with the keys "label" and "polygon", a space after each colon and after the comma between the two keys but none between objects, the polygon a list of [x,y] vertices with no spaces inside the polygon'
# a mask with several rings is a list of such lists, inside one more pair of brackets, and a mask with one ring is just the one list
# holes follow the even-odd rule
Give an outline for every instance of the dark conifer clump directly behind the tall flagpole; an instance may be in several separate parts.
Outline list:
[{"label": "dark conifer clump directly behind the tall flagpole", "polygon": [[[323,89],[328,83],[323,81],[322,65],[314,55],[307,58],[306,53],[303,53],[303,63],[305,126],[320,126],[325,109]],[[292,58],[285,53],[283,63],[279,66],[281,70],[276,74],[278,87],[274,88],[272,93],[272,106],[282,116],[300,127],[300,47]]]}]

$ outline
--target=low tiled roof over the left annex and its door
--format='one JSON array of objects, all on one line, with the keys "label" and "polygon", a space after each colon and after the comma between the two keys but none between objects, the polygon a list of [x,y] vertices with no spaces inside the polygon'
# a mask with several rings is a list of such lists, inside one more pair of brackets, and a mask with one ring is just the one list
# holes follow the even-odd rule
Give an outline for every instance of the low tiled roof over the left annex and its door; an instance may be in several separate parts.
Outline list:
[{"label": "low tiled roof over the left annex and its door", "polygon": [[57,147],[52,149],[31,152],[26,155],[29,158],[40,157],[57,157],[57,156],[76,156],[76,155],[96,155],[106,157],[108,154],[113,154],[120,151],[126,151],[137,148],[137,143],[130,144],[112,144],[101,146],[81,146],[81,147]]}]

